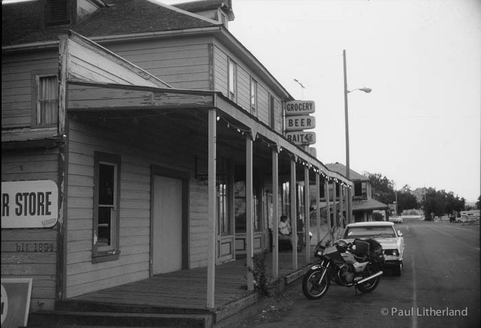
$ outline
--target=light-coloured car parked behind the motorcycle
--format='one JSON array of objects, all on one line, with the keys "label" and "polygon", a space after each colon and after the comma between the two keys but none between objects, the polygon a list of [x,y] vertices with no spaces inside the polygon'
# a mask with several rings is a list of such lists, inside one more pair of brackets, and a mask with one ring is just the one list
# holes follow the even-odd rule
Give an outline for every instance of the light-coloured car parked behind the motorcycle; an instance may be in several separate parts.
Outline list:
[{"label": "light-coloured car parked behind the motorcycle", "polygon": [[357,222],[346,226],[343,239],[375,239],[383,246],[385,266],[393,267],[394,274],[401,276],[403,270],[404,238],[401,231],[394,229],[392,222]]}]

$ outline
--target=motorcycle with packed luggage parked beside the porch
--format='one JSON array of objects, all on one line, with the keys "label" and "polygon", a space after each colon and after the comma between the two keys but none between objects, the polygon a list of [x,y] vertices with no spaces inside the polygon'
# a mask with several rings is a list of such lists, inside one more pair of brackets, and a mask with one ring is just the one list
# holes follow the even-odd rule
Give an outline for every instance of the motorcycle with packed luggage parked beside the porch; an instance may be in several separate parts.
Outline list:
[{"label": "motorcycle with packed luggage parked beside the porch", "polygon": [[374,239],[343,239],[331,243],[324,239],[317,243],[314,256],[320,263],[313,265],[302,279],[302,292],[306,298],[317,300],[324,296],[331,281],[344,287],[355,287],[361,293],[370,293],[379,284],[384,255]]}]

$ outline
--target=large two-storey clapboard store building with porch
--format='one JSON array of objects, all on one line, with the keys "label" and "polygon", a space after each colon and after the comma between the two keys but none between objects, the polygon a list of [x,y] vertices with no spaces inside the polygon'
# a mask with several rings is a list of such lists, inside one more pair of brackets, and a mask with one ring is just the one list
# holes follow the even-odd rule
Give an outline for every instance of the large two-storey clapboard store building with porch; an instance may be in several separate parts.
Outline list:
[{"label": "large two-storey clapboard store building with porch", "polygon": [[303,186],[351,184],[284,137],[293,97],[227,30],[230,0],[2,10],[1,267],[33,278],[32,311],[249,265],[281,214],[304,213]]}]

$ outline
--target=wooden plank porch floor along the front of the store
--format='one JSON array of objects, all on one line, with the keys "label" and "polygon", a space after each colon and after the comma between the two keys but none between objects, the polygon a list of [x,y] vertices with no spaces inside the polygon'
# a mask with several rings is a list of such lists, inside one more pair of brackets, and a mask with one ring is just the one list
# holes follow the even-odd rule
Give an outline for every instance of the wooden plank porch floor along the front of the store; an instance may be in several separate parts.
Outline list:
[{"label": "wooden plank porch floor along the front of the store", "polygon": [[[313,246],[308,250],[311,252]],[[298,269],[292,268],[292,251],[279,252],[279,278],[271,280],[273,288],[295,281],[307,266],[306,248],[298,252]],[[271,276],[272,253],[265,256],[267,275]],[[311,260],[313,261],[313,260]],[[91,292],[56,304],[56,311],[116,312],[142,314],[207,314],[219,322],[240,309],[254,304],[259,294],[247,290],[246,259],[216,266],[215,307],[206,305],[208,270],[199,267],[159,274],[142,281]],[[280,286],[280,287],[279,287]]]}]

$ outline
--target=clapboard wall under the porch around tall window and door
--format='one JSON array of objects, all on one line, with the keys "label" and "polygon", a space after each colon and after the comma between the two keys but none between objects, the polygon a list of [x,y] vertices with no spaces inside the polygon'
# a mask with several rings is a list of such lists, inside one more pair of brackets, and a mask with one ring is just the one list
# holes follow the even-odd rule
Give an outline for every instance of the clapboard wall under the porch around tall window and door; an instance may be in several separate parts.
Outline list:
[{"label": "clapboard wall under the porch around tall window and door", "polygon": [[[170,122],[156,129],[151,124],[69,120],[67,298],[148,277],[151,165],[193,175],[194,154],[205,153],[207,144],[206,138],[179,138],[185,133]],[[121,156],[120,257],[105,263],[91,257],[94,151]],[[193,178],[189,190],[188,265],[199,267],[207,263],[208,193]]]}]

